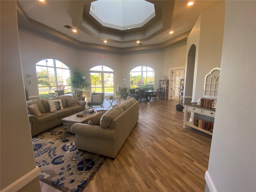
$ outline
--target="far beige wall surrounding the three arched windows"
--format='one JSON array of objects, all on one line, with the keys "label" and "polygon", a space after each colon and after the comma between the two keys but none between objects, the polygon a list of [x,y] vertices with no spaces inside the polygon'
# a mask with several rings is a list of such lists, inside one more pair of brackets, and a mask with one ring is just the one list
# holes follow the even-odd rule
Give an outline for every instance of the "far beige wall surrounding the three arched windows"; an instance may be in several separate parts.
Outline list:
[{"label": "far beige wall surrounding the three arched windows", "polygon": [[[85,72],[88,80],[90,79],[90,68],[97,65],[108,66],[114,70],[115,89],[117,89],[118,84],[122,86],[125,85],[126,87],[130,85],[129,77],[132,68],[140,65],[149,66],[155,70],[155,90],[158,88],[159,80],[162,79],[163,74],[168,77],[170,68],[182,67],[185,65],[186,60],[186,42],[166,50],[120,55],[89,50],[77,50],[70,46],[52,42],[50,39],[46,39],[24,28],[19,28],[19,33],[25,85],[27,85],[26,74],[32,74],[33,76],[33,86],[28,86],[31,99],[39,96],[35,64],[46,58],[56,58],[70,66],[71,69],[78,66]],[[100,55],[104,55],[105,58],[99,58]],[[123,82],[122,78],[126,78],[126,81]],[[90,90],[90,88],[86,90]],[[116,94],[120,94],[120,92],[116,92]]]}]

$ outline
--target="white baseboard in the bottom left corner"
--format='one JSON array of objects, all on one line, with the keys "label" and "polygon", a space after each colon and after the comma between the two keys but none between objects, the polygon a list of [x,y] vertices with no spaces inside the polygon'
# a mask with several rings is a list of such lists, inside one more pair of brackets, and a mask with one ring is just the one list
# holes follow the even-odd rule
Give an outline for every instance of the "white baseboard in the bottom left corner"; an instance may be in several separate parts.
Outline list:
[{"label": "white baseboard in the bottom left corner", "polygon": [[12,184],[1,190],[1,192],[10,192],[10,191],[18,191],[26,184],[34,180],[41,174],[40,168],[36,166],[33,170],[19,178],[18,180],[14,181]]}]

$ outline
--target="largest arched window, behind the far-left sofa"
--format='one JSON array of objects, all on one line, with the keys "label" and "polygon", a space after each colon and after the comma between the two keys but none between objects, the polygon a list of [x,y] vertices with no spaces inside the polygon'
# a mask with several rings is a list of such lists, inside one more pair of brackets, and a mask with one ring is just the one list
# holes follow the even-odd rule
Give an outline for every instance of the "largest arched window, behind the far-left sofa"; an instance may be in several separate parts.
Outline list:
[{"label": "largest arched window, behind the far-left sofa", "polygon": [[36,64],[38,91],[40,98],[48,98],[48,92],[64,90],[71,93],[70,68],[56,59],[41,60]]}]

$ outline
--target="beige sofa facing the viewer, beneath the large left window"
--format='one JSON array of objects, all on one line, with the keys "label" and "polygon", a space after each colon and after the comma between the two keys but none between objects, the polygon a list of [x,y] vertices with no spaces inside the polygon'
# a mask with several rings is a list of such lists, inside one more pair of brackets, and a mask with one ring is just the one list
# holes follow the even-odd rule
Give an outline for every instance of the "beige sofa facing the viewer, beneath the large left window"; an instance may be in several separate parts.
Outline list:
[{"label": "beige sofa facing the viewer, beneath the large left window", "polygon": [[[50,112],[49,101],[61,101],[62,108]],[[60,104],[60,103],[59,103]],[[72,96],[58,96],[50,99],[27,101],[28,118],[32,136],[62,124],[62,118],[85,110],[85,101],[78,101]]]}]

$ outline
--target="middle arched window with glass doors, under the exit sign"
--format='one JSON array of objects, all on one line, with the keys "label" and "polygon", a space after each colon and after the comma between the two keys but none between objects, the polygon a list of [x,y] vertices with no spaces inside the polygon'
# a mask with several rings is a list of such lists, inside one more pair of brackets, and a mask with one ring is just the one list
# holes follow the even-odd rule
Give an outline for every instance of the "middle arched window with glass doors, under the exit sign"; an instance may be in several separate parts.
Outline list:
[{"label": "middle arched window with glass doors, under the exit sign", "polygon": [[104,96],[114,94],[114,71],[103,65],[90,69],[92,92],[105,93]]}]

